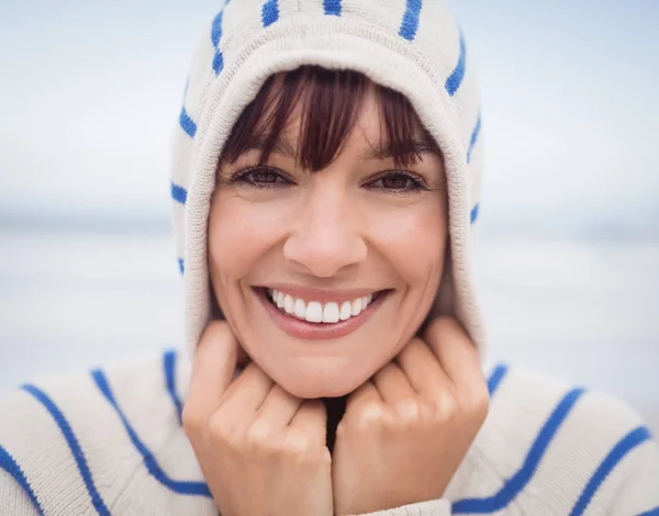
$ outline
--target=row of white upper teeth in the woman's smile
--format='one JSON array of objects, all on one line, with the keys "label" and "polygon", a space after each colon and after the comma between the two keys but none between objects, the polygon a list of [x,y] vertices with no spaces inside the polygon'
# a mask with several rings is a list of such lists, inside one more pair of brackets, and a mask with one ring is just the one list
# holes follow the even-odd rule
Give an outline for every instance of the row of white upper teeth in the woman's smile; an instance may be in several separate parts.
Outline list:
[{"label": "row of white upper teeth in the woman's smile", "polygon": [[268,298],[281,312],[309,323],[333,324],[356,317],[372,303],[373,294],[364,295],[353,301],[322,304],[319,301],[304,301],[276,289],[268,289]]}]

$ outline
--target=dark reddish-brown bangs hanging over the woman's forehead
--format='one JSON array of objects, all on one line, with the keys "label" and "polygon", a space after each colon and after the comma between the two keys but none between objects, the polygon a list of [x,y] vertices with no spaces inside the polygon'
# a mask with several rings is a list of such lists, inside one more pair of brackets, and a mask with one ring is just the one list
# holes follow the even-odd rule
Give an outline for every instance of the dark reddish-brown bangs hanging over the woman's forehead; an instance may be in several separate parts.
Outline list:
[{"label": "dark reddish-brown bangs hanging over the woman's forehead", "polygon": [[440,154],[405,96],[358,71],[303,66],[268,78],[234,125],[221,161],[234,164],[242,154],[259,149],[259,165],[265,165],[295,112],[300,113],[297,165],[321,170],[340,153],[369,91],[380,110],[378,145],[396,167],[421,159],[420,136]]}]

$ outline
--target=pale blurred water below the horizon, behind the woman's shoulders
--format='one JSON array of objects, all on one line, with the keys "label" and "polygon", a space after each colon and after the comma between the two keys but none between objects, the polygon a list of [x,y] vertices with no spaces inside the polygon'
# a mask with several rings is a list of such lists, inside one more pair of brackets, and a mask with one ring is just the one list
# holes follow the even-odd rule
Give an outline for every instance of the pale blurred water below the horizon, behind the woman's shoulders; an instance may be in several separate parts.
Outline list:
[{"label": "pale blurred water below the horizon, behind the woman's shoulders", "polygon": [[[0,395],[181,341],[169,236],[4,229],[0,249]],[[490,359],[613,392],[659,433],[659,242],[490,237],[476,256]]]}]

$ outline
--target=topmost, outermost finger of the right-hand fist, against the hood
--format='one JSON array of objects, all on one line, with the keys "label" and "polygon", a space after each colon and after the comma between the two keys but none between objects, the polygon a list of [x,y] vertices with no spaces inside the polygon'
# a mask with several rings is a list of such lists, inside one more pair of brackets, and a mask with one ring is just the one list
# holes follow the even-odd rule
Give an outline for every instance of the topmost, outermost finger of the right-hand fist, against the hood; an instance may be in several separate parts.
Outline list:
[{"label": "topmost, outermost finger of the right-hand fist, against the hood", "polygon": [[456,319],[450,317],[434,319],[428,325],[425,341],[458,390],[484,381],[478,350]]}]

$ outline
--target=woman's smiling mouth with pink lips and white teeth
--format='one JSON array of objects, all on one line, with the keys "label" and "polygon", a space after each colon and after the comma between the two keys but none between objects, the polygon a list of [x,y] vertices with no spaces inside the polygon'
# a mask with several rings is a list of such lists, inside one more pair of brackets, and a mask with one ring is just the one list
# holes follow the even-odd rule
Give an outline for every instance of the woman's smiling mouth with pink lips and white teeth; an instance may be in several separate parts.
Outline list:
[{"label": "woman's smiling mouth with pink lips and white teeth", "polygon": [[291,337],[322,340],[351,334],[382,305],[391,290],[315,291],[255,288],[270,319]]}]

